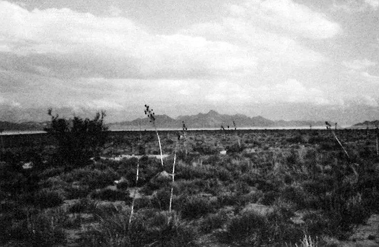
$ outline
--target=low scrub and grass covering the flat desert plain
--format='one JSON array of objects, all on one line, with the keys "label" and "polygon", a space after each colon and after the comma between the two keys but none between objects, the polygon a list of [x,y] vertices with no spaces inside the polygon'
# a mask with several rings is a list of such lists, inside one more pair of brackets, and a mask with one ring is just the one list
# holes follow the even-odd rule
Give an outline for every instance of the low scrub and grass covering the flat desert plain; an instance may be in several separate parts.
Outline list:
[{"label": "low scrub and grass covering the flat desert plain", "polygon": [[378,213],[379,159],[374,130],[335,134],[349,157],[330,130],[160,132],[163,166],[156,132],[108,133],[93,159],[3,136],[0,245],[339,246]]}]

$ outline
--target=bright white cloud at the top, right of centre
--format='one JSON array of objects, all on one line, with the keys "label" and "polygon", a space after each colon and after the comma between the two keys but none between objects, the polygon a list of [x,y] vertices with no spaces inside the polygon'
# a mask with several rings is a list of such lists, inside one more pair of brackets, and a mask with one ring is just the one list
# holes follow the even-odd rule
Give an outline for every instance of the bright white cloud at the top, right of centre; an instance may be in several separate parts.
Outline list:
[{"label": "bright white cloud at the top, right of centre", "polygon": [[[283,4],[285,4],[287,12],[294,13],[280,14],[280,7]],[[239,47],[244,47],[245,54],[256,57],[258,64],[267,63],[273,66],[273,70],[277,70],[277,67],[288,65],[314,66],[328,60],[322,54],[303,46],[296,39],[290,38],[286,32],[292,33],[292,35],[301,33],[302,36],[313,36],[313,38],[319,39],[332,37],[339,31],[338,24],[329,22],[323,19],[322,15],[289,0],[283,3],[274,0],[254,0],[246,2],[244,5],[230,5],[229,10],[230,16],[222,19],[221,23],[194,24],[190,28],[182,30],[181,33],[204,37],[208,40],[226,40]],[[299,12],[300,15],[297,15],[296,12]],[[293,15],[298,16],[298,19],[293,19]],[[309,15],[308,22],[307,15]],[[279,25],[283,23],[286,23],[286,27],[280,28]]]}]

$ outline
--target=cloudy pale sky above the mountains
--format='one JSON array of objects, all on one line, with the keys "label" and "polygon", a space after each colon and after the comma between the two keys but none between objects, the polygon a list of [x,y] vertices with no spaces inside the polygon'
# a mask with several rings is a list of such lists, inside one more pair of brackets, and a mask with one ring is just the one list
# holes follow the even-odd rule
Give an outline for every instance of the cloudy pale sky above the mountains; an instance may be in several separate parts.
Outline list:
[{"label": "cloudy pale sky above the mountains", "polygon": [[379,0],[0,0],[0,121],[379,119]]}]

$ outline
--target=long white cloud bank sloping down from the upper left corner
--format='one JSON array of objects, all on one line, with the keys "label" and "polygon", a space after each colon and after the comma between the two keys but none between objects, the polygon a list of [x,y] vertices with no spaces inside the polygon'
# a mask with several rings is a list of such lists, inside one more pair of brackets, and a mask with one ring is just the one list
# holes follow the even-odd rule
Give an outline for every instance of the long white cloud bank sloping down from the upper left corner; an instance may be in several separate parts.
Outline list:
[{"label": "long white cloud bank sloping down from the upper left corner", "polygon": [[256,65],[255,57],[228,42],[152,35],[121,17],[29,12],[6,1],[0,1],[0,15],[0,47],[36,73],[48,67],[50,75],[179,78],[240,74]]}]

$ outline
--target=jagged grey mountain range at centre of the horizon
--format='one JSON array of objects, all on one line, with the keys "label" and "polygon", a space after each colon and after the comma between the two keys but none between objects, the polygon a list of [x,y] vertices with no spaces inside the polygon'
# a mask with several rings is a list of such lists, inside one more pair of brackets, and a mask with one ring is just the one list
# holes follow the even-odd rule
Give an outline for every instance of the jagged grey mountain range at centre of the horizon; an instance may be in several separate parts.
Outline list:
[{"label": "jagged grey mountain range at centre of the horizon", "polygon": [[[227,115],[219,114],[216,111],[209,111],[207,114],[185,115],[171,118],[167,115],[156,115],[156,126],[158,128],[180,129],[182,122],[185,123],[188,129],[201,128],[221,128],[234,129],[233,121],[238,128],[246,127],[300,127],[300,126],[322,126],[325,122],[322,121],[273,121],[262,116],[248,117],[242,114]],[[138,118],[133,121],[125,121],[119,123],[111,123],[107,125],[110,130],[138,130],[152,129],[152,124],[149,118]]]}]

